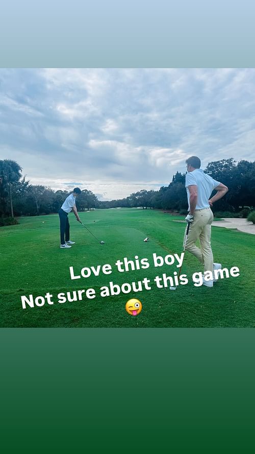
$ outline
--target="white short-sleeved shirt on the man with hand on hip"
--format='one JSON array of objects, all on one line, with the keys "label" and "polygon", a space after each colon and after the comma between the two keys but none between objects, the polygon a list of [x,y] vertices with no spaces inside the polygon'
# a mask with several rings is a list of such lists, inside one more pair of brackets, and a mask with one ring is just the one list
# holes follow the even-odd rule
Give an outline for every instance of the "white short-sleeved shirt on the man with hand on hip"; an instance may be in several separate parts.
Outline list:
[{"label": "white short-sleeved shirt on the man with hand on hip", "polygon": [[196,210],[208,208],[210,196],[213,189],[218,186],[219,181],[214,180],[210,175],[205,174],[202,169],[195,169],[192,172],[187,172],[185,178],[185,187],[187,189],[188,203],[190,209],[190,193],[188,186],[195,184],[197,186],[197,202]]}]

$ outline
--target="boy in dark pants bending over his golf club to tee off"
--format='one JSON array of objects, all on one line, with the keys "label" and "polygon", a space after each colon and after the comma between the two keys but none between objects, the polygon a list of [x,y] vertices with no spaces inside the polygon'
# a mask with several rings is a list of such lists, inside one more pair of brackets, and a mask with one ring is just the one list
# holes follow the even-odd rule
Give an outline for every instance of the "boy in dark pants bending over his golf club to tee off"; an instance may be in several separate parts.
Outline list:
[{"label": "boy in dark pants bending over his golf club to tee off", "polygon": [[81,189],[75,187],[73,192],[65,199],[62,207],[59,210],[60,218],[60,249],[69,249],[72,244],[75,244],[74,241],[70,241],[70,226],[68,221],[68,213],[73,211],[77,221],[81,222],[77,208],[75,206],[75,197],[81,194]]}]

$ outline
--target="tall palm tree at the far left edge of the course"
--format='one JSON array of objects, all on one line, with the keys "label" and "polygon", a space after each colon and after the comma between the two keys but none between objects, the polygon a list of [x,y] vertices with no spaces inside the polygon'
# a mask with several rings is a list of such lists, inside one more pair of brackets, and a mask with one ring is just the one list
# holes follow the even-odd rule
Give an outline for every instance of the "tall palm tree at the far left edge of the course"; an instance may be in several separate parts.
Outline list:
[{"label": "tall palm tree at the far left edge of the course", "polygon": [[21,178],[21,167],[16,161],[11,159],[4,159],[0,161],[0,180],[1,184],[7,188],[10,201],[11,217],[13,218],[12,206],[12,188]]}]

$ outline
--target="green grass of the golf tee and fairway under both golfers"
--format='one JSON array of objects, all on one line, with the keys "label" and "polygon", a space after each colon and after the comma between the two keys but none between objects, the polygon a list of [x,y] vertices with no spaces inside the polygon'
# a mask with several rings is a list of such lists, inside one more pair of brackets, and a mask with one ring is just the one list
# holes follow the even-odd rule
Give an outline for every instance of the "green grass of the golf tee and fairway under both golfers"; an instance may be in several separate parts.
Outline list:
[{"label": "green grass of the golf tee and fairway under both golfers", "polygon": [[[202,271],[189,253],[185,254],[182,274],[189,283],[175,291],[158,289],[155,276],[173,275],[175,266],[155,268],[152,253],[165,256],[182,252],[185,224],[182,218],[162,211],[140,209],[94,210],[81,214],[81,219],[99,240],[69,214],[71,240],[69,250],[59,248],[58,215],[20,218],[19,225],[0,228],[0,318],[2,327],[254,327],[254,235],[220,227],[212,227],[214,260],[230,269],[237,266],[240,276],[221,279],[213,289],[192,283],[192,273]],[[184,219],[184,217],[183,217]],[[145,236],[149,242],[144,243]],[[114,266],[117,259],[148,258],[146,270],[120,273]],[[69,267],[79,273],[83,267],[110,264],[110,275],[100,273],[71,280]],[[151,290],[139,293],[100,297],[100,287],[110,281],[116,284],[151,280]],[[93,288],[95,299],[57,302],[60,292]],[[53,294],[53,305],[22,309],[21,295]],[[137,297],[142,312],[133,317],[126,313],[125,303]]]}]

